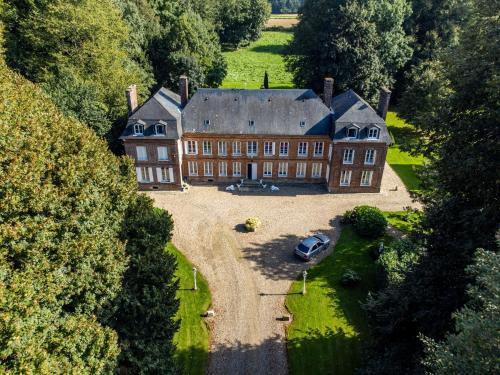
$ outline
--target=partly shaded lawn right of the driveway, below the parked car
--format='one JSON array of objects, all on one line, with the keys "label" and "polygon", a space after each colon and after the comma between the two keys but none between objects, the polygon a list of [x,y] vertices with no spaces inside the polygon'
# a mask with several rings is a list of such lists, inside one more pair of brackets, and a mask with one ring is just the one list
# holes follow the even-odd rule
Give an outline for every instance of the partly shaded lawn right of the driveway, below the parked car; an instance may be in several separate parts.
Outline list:
[{"label": "partly shaded lawn right of the driveway, below the parked car", "polygon": [[[362,346],[369,334],[360,301],[376,285],[375,262],[369,251],[381,241],[391,240],[388,236],[366,240],[346,226],[332,255],[308,271],[306,295],[300,294],[302,280],[292,284],[286,299],[294,318],[287,334],[291,374],[353,374],[361,365]],[[352,289],[340,285],[348,268],[362,280]]]}]

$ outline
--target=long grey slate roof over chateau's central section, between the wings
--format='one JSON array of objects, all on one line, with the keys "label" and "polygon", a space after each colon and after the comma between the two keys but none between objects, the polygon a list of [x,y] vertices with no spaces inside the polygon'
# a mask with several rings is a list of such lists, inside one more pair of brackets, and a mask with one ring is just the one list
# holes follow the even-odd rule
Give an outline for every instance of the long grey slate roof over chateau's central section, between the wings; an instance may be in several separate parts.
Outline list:
[{"label": "long grey slate roof over chateau's central section, between the wings", "polygon": [[329,135],[331,112],[312,90],[199,89],[182,112],[182,127],[186,133]]}]

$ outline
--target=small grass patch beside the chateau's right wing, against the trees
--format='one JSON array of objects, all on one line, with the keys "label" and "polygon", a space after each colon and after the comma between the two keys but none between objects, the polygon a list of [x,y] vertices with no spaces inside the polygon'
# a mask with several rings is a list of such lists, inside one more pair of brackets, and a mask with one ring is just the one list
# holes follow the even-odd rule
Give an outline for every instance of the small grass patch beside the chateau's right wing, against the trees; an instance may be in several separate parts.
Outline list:
[{"label": "small grass patch beside the chateau's right wing, against the trees", "polygon": [[422,166],[424,157],[412,156],[402,151],[400,146],[405,143],[414,142],[418,134],[411,125],[406,124],[404,120],[400,119],[396,112],[389,112],[386,122],[389,132],[395,140],[395,144],[389,147],[387,162],[398,174],[408,190],[417,191],[420,187],[420,180],[416,171]]}]

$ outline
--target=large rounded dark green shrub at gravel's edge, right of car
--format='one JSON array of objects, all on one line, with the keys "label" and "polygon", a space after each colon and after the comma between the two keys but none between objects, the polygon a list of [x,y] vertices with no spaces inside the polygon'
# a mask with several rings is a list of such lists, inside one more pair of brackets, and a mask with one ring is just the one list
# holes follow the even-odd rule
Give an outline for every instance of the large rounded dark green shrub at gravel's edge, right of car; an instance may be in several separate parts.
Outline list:
[{"label": "large rounded dark green shrub at gravel's edge, right of car", "polygon": [[344,215],[343,223],[352,224],[357,234],[367,238],[377,238],[385,233],[387,219],[376,207],[358,206]]}]

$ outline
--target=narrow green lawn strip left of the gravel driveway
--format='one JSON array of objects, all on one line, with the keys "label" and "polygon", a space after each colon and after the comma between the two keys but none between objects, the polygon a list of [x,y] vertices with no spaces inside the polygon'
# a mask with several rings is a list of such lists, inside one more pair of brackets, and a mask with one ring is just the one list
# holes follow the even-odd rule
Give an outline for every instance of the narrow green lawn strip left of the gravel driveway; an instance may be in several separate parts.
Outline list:
[{"label": "narrow green lawn strip left of the gravel driveway", "polygon": [[198,290],[193,290],[193,265],[169,243],[167,251],[177,259],[176,276],[179,279],[177,298],[180,307],[177,318],[181,324],[174,337],[177,361],[185,375],[205,374],[208,361],[208,328],[200,316],[211,304],[210,290],[198,272]]}]

